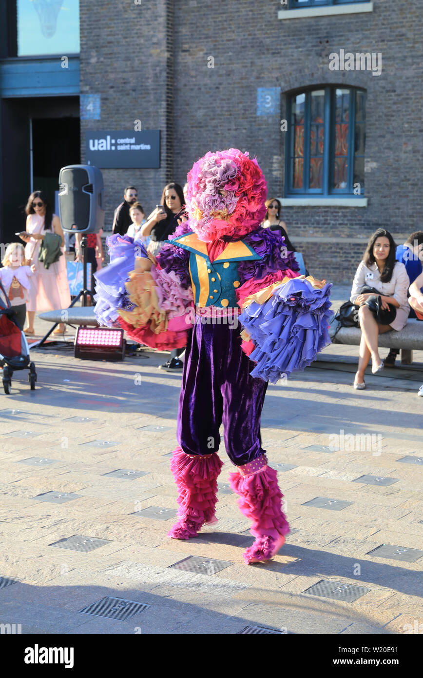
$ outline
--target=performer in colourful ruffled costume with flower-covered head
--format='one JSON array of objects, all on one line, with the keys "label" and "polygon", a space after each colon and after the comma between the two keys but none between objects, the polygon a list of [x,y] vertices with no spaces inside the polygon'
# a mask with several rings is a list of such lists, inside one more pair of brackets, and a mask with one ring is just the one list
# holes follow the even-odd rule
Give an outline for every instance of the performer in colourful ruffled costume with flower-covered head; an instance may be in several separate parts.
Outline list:
[{"label": "performer in colourful ruffled costume with flower-covered head", "polygon": [[264,395],[269,380],[302,370],[329,344],[331,285],[299,276],[283,237],[260,227],[266,182],[248,153],[207,153],[188,173],[187,198],[188,220],[157,259],[128,236],[109,239],[112,263],[96,275],[96,314],[148,346],[186,344],[170,464],[180,506],[168,536],[189,539],[217,520],[223,422],[236,467],[230,485],[255,538],[244,559],[266,561],[289,525],[261,443]]}]

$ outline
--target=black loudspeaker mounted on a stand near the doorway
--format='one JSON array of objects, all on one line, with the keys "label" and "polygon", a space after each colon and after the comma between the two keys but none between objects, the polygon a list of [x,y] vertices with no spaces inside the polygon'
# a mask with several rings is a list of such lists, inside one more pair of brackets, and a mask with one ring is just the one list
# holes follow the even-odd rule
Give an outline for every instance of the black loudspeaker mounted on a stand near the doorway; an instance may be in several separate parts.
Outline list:
[{"label": "black loudspeaker mounted on a stand near the doorway", "polygon": [[66,165],[59,174],[59,214],[63,230],[98,233],[104,226],[103,175],[93,165]]}]

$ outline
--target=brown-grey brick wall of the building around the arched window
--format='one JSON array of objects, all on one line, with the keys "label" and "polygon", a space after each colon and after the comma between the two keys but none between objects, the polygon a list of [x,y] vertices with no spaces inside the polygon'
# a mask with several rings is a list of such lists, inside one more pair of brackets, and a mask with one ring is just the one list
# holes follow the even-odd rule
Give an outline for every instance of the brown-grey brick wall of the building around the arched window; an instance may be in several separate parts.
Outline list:
[{"label": "brown-grey brick wall of the building around the arched window", "polygon": [[[75,83],[73,89],[62,85],[62,95],[101,99],[100,119],[81,119],[81,163],[85,131],[130,131],[136,120],[143,130],[161,130],[159,169],[102,169],[106,228],[125,186],[137,186],[148,213],[165,183],[184,184],[196,159],[230,146],[258,158],[269,196],[283,199],[282,218],[310,273],[349,283],[378,226],[399,242],[421,228],[420,0],[323,2],[79,0],[79,92]],[[340,50],[380,54],[380,75],[331,71],[330,55]],[[63,83],[71,73],[60,75]],[[281,121],[291,124],[289,100],[293,92],[330,86],[366,93],[359,200],[339,193],[287,193],[289,144]],[[274,96],[267,111],[258,102],[263,88]]]}]

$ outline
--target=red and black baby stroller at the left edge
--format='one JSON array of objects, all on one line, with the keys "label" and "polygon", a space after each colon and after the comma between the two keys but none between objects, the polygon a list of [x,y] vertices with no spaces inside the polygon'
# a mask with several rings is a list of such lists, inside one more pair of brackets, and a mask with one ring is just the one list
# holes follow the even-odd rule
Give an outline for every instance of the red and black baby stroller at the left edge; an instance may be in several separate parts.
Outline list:
[{"label": "red and black baby stroller at the left edge", "polygon": [[3,388],[10,395],[14,370],[29,370],[28,382],[31,391],[35,389],[37,372],[29,361],[29,348],[26,336],[22,332],[10,305],[4,287],[0,282],[0,367],[3,367]]}]

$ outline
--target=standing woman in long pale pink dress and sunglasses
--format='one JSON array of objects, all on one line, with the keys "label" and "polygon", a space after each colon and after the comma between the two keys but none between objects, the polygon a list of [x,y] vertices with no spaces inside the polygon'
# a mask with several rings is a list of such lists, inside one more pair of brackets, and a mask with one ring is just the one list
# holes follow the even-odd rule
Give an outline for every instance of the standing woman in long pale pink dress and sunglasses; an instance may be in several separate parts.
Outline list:
[{"label": "standing woman in long pale pink dress and sunglasses", "polygon": [[[64,235],[62,224],[57,214],[53,214],[48,198],[43,191],[34,191],[28,198],[25,207],[26,231],[20,233],[25,243],[25,257],[29,264],[34,264],[35,275],[31,277],[29,301],[26,305],[28,326],[25,334],[34,334],[35,312],[57,311],[71,304],[66,260],[64,257]],[[49,268],[38,260],[39,248],[45,233],[56,233],[62,239],[60,249],[62,256]],[[63,334],[65,327],[60,323],[53,334]]]}]

